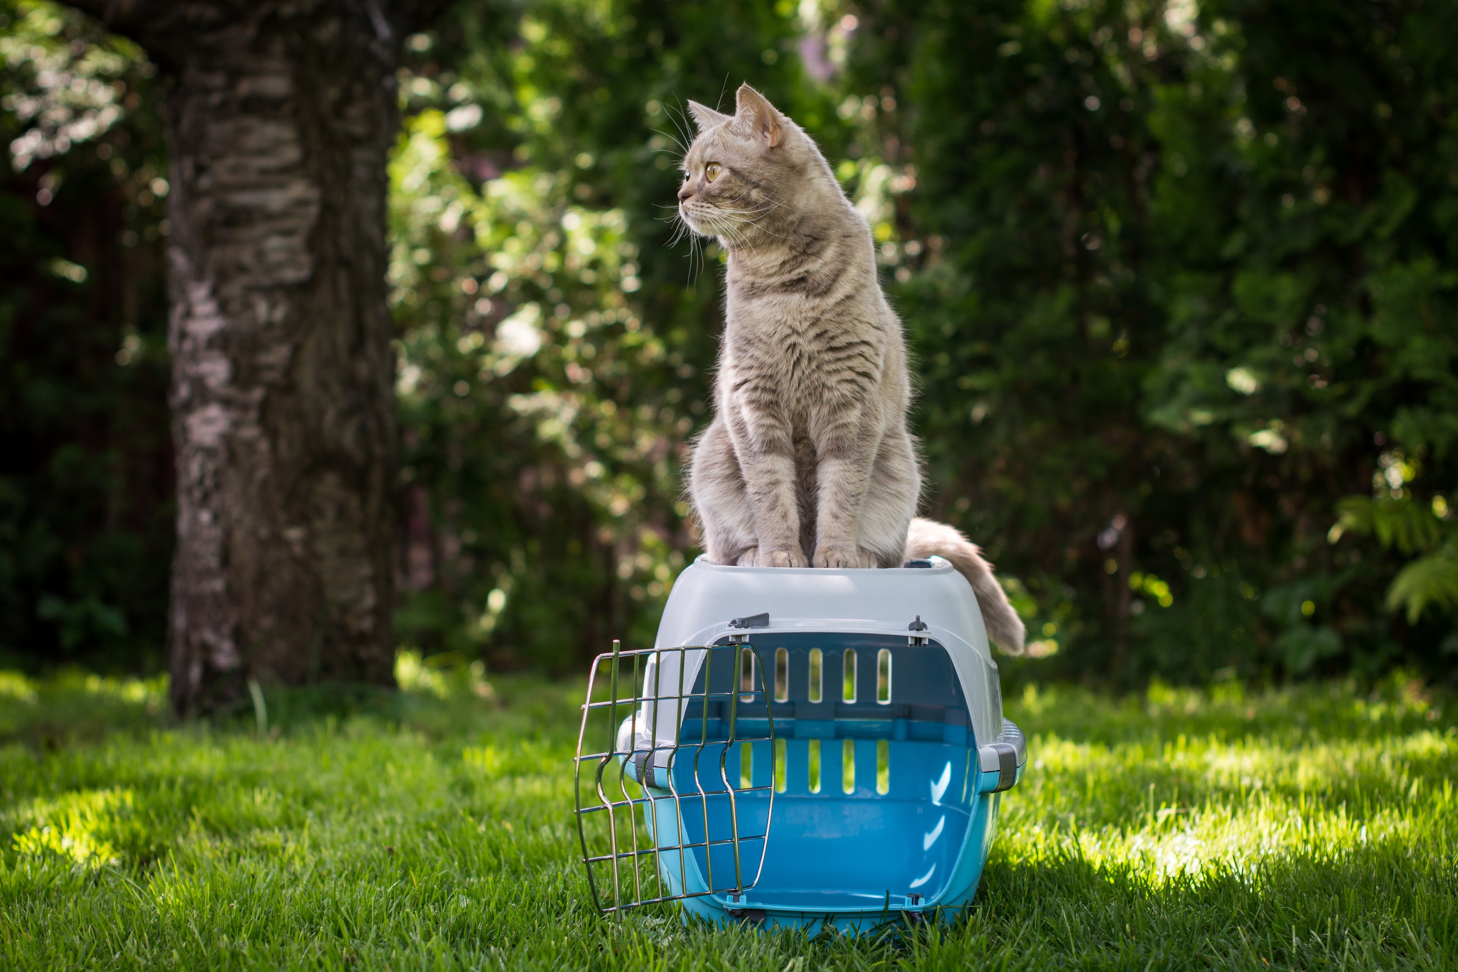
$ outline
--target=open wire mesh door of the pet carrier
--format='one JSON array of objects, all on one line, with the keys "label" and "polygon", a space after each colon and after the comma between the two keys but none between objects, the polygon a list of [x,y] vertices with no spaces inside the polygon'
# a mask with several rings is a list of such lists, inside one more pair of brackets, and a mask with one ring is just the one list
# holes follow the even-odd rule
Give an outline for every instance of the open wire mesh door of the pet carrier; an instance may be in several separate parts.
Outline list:
[{"label": "open wire mesh door of the pet carrier", "polygon": [[576,818],[604,914],[752,887],[774,807],[774,721],[752,644],[599,654]]}]

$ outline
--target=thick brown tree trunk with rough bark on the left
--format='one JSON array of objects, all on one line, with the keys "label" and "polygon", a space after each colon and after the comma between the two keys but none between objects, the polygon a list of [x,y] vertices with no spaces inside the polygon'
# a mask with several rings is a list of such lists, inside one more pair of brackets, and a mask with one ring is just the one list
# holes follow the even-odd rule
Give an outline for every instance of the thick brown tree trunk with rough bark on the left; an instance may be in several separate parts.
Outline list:
[{"label": "thick brown tree trunk with rough bark on the left", "polygon": [[77,6],[169,79],[174,705],[245,678],[389,683],[386,154],[426,4]]}]

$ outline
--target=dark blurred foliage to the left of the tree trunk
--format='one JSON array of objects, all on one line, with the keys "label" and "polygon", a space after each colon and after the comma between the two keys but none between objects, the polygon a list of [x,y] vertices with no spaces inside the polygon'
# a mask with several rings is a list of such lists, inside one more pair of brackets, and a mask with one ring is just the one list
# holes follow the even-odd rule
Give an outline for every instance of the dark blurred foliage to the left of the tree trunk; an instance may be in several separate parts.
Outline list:
[{"label": "dark blurred foliage to the left of the tree trunk", "polygon": [[0,656],[162,663],[166,153],[153,67],[0,1]]}]

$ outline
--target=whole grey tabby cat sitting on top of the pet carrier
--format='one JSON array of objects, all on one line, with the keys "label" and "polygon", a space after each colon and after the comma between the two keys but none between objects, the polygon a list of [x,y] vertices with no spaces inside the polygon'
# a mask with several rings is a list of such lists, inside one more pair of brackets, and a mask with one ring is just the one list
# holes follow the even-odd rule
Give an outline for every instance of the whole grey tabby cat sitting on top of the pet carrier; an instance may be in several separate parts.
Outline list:
[{"label": "whole grey tabby cat sitting on top of the pet carrier", "polygon": [[1022,621],[977,546],[914,517],[905,341],[866,220],[809,136],[748,85],[733,115],[688,106],[698,137],[678,211],[729,255],[714,420],[690,474],[709,560],[843,568],[937,554],[971,581],[991,640],[1021,653]]}]

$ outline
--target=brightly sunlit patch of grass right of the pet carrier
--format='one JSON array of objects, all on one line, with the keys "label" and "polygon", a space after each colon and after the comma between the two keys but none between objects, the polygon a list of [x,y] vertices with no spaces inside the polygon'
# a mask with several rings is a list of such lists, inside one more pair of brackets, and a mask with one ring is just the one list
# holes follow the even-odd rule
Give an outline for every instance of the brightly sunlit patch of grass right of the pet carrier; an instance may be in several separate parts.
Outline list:
[{"label": "brightly sunlit patch of grass right of the pet carrier", "polygon": [[1411,765],[1414,756],[1458,765],[1452,730],[1295,752],[1252,739],[1180,737],[1150,752],[1038,737],[1034,752],[1029,785],[1007,799],[1002,818],[1007,860],[1056,845],[1152,879],[1212,863],[1250,873],[1270,857],[1317,860],[1413,841],[1458,810],[1451,778],[1430,781]]}]

